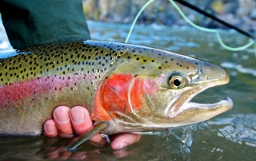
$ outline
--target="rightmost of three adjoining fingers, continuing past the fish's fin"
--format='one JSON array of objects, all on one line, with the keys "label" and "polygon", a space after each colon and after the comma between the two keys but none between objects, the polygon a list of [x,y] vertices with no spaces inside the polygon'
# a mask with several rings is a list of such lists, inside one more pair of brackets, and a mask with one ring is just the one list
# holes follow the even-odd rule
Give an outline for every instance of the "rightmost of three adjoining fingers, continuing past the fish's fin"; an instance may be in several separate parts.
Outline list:
[{"label": "rightmost of three adjoining fingers, continuing past the fish's fin", "polygon": [[[90,113],[88,110],[82,106],[75,106],[70,109],[70,120],[73,126],[74,132],[77,135],[80,135],[84,132],[88,132],[91,128],[93,128],[93,122],[90,119]],[[90,141],[94,143],[106,143],[104,138],[101,135],[96,134],[90,138]]]}]

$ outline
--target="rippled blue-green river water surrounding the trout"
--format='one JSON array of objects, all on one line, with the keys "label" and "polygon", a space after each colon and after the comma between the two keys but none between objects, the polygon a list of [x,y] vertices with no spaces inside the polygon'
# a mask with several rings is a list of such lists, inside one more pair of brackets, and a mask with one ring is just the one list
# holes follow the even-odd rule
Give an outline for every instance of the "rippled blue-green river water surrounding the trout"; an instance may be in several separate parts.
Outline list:
[{"label": "rippled blue-green river water surrounding the trout", "polygon": [[[88,22],[94,40],[125,41],[130,25]],[[221,30],[226,45],[248,42],[233,30]],[[10,49],[0,33],[0,50]],[[95,147],[84,143],[70,152],[72,159],[86,160],[256,160],[256,57],[254,49],[231,52],[218,44],[214,33],[188,27],[135,26],[129,43],[167,49],[213,62],[230,73],[230,83],[207,89],[192,100],[214,103],[229,96],[234,108],[209,121],[165,132],[142,135],[130,147],[113,151],[110,145]],[[55,143],[58,141],[57,143]],[[65,143],[66,139],[0,137],[0,160],[50,159],[42,149]],[[59,154],[66,159],[66,154]]]}]

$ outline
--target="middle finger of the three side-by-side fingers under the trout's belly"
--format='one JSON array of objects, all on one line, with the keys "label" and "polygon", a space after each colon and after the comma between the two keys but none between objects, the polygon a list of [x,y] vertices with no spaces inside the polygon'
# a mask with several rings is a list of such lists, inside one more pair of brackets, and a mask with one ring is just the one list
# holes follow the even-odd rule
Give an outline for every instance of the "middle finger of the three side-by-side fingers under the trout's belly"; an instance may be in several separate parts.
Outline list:
[{"label": "middle finger of the three side-by-side fingers under the trout's belly", "polygon": [[73,137],[73,130],[70,123],[70,108],[59,106],[54,109],[54,121],[58,129],[58,135],[65,138]]}]

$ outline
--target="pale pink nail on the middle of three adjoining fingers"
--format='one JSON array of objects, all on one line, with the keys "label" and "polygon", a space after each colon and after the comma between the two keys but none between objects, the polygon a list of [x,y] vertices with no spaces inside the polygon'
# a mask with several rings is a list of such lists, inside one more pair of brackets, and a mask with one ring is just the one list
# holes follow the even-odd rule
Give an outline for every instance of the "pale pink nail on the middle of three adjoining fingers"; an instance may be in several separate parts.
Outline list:
[{"label": "pale pink nail on the middle of three adjoining fingers", "polygon": [[57,108],[54,110],[54,120],[59,124],[67,124],[70,121],[69,108]]}]

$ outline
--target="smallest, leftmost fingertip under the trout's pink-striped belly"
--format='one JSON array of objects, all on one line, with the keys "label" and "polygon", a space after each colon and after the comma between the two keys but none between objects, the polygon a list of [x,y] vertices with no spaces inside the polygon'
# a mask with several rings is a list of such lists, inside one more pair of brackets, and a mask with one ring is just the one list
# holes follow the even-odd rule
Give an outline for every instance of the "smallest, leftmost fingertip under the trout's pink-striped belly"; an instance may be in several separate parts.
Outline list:
[{"label": "smallest, leftmost fingertip under the trout's pink-striped belly", "polygon": [[46,120],[45,124],[43,124],[43,134],[48,137],[56,137],[58,135],[54,120]]}]

